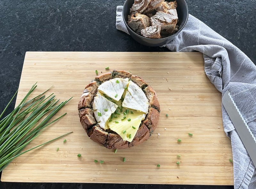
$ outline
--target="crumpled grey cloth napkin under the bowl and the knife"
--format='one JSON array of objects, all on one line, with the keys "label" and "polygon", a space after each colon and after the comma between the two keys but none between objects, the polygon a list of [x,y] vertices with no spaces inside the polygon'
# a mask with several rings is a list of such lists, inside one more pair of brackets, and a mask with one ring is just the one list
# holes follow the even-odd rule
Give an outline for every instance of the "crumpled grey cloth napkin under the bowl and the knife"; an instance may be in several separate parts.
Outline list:
[{"label": "crumpled grey cloth napkin under the bowl and the knife", "polygon": [[[128,33],[122,10],[123,6],[117,6],[116,28]],[[256,136],[256,66],[241,50],[192,15],[189,15],[183,30],[164,47],[177,52],[203,53],[205,74],[222,92],[222,96],[226,90],[230,92],[253,135]],[[222,118],[224,131],[231,139],[234,188],[256,189],[255,166],[223,105]]]}]

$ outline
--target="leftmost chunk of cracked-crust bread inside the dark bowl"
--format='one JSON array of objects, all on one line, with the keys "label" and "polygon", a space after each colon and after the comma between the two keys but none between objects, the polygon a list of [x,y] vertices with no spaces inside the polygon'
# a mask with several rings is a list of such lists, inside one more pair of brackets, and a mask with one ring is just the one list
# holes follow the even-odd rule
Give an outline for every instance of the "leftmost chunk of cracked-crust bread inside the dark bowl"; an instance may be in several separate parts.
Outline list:
[{"label": "leftmost chunk of cracked-crust bread inside the dark bowl", "polygon": [[144,14],[135,13],[131,15],[128,25],[135,33],[140,34],[142,29],[145,29],[150,25],[150,18]]}]

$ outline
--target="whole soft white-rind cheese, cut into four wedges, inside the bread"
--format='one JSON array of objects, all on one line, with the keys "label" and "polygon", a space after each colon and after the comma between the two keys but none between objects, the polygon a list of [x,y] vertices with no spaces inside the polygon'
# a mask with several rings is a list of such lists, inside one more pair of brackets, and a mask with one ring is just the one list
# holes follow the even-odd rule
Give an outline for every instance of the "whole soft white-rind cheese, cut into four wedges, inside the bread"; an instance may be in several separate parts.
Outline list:
[{"label": "whole soft white-rind cheese, cut into four wedges, inside the bread", "polygon": [[98,87],[92,107],[101,128],[115,131],[124,141],[132,142],[148,113],[148,99],[128,78],[114,78]]}]

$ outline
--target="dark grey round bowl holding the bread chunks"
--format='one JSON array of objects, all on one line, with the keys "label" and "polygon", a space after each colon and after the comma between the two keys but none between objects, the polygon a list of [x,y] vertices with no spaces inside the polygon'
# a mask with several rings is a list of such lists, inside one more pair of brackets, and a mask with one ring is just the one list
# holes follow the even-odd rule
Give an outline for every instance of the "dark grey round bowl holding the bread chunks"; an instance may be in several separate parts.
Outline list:
[{"label": "dark grey round bowl holding the bread chunks", "polygon": [[[167,0],[167,1],[170,2],[170,0]],[[162,39],[149,39],[149,38],[143,37],[143,36],[138,35],[137,33],[133,32],[133,30],[127,25],[127,20],[128,20],[127,16],[130,13],[130,8],[132,7],[134,0],[126,0],[124,2],[124,8],[123,8],[123,20],[124,20],[125,26],[128,29],[128,32],[130,33],[132,38],[142,45],[151,46],[151,47],[162,46],[162,45],[172,41],[175,38],[175,36],[177,36],[178,33],[180,33],[180,31],[184,28],[184,26],[186,25],[186,23],[188,21],[188,5],[187,5],[187,3],[185,2],[185,0],[176,0],[176,1],[178,4],[177,13],[178,13],[178,18],[179,18],[178,31],[176,33],[174,33],[173,35],[171,35],[169,37],[162,38]]]}]

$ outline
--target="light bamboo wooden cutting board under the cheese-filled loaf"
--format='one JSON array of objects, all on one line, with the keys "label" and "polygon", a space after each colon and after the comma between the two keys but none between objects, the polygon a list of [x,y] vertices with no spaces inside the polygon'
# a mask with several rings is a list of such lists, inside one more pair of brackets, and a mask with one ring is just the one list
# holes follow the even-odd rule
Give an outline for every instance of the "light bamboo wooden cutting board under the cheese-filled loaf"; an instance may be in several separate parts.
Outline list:
[{"label": "light bamboo wooden cutting board under the cheese-filled loaf", "polygon": [[[96,76],[96,69],[104,73],[107,66],[142,77],[157,92],[161,106],[158,127],[148,141],[117,153],[89,139],[77,111],[84,86]],[[34,96],[53,85],[48,94],[73,99],[59,113],[67,115],[28,148],[74,133],[65,137],[66,143],[63,138],[15,159],[3,171],[2,181],[233,185],[221,93],[205,75],[201,53],[27,52],[16,104],[35,82]]]}]

